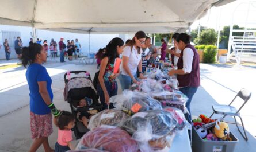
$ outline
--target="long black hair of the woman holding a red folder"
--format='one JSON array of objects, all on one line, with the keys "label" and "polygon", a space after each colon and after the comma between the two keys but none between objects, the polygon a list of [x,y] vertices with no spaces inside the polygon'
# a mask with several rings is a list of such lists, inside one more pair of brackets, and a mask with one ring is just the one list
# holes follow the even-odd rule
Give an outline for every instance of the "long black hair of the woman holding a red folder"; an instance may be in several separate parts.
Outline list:
[{"label": "long black hair of the woman holding a red folder", "polygon": [[106,53],[102,55],[102,59],[104,57],[109,58],[109,63],[114,63],[114,59],[119,57],[119,54],[117,53],[117,46],[121,47],[124,45],[124,41],[119,38],[115,37],[113,38],[108,45],[106,45]]}]

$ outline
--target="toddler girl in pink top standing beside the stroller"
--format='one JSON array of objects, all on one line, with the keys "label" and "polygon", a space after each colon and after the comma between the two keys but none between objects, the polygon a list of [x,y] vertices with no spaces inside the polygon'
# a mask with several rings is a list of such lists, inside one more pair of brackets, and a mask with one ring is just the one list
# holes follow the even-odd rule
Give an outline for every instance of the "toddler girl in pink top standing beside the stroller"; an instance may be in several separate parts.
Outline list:
[{"label": "toddler girl in pink top standing beside the stroller", "polygon": [[68,111],[60,112],[59,119],[57,120],[58,139],[55,144],[55,152],[65,152],[74,149],[71,145],[72,131],[71,129],[75,124],[75,116]]}]

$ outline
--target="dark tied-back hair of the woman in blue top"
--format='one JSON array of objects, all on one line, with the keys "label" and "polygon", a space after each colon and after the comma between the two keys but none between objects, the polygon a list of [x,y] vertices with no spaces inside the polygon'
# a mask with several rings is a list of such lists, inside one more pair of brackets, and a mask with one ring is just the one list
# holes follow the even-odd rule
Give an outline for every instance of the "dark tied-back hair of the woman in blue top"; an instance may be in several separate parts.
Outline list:
[{"label": "dark tied-back hair of the woman in blue top", "polygon": [[41,53],[43,47],[41,44],[33,43],[28,47],[24,47],[21,50],[22,65],[26,66],[32,64],[36,60],[36,55]]}]

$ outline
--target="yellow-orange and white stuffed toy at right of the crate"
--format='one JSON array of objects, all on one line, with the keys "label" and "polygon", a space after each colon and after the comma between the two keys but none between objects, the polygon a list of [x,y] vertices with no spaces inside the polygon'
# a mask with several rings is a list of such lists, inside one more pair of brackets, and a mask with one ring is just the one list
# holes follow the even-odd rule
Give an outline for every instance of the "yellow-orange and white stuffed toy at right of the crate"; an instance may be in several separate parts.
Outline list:
[{"label": "yellow-orange and white stuffed toy at right of the crate", "polygon": [[230,134],[230,128],[227,123],[217,120],[214,127],[214,133],[218,138],[226,141]]}]

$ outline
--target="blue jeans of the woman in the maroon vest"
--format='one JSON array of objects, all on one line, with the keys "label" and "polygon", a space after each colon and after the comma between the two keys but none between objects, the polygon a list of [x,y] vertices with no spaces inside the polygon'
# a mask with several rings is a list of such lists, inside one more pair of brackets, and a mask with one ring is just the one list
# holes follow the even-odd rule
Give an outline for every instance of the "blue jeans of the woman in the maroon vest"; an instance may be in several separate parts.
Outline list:
[{"label": "blue jeans of the woman in the maroon vest", "polygon": [[197,88],[198,87],[184,87],[179,89],[182,93],[184,93],[184,95],[186,95],[189,98],[188,101],[186,102],[186,108],[188,109],[189,114],[185,114],[186,120],[188,120],[188,122],[191,122],[190,103],[194,96],[194,93],[196,93],[197,91]]}]

